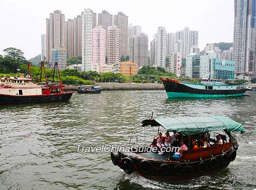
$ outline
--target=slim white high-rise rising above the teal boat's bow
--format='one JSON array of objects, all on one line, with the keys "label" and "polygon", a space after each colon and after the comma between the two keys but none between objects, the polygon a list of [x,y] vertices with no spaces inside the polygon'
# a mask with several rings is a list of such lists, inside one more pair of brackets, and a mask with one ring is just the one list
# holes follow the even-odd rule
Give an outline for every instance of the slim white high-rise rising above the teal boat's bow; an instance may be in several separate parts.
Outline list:
[{"label": "slim white high-rise rising above the teal boat's bow", "polygon": [[157,31],[157,66],[165,68],[166,58],[166,30],[158,27]]}]

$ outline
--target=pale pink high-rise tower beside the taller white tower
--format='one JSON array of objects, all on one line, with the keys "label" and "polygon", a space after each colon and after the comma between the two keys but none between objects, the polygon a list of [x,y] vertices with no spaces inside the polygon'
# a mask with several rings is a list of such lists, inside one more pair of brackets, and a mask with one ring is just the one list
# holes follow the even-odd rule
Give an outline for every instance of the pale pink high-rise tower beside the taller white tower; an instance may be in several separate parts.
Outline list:
[{"label": "pale pink high-rise tower beside the taller white tower", "polygon": [[92,29],[92,64],[99,66],[99,72],[102,72],[102,66],[105,65],[105,40],[106,31],[102,26],[96,26]]}]

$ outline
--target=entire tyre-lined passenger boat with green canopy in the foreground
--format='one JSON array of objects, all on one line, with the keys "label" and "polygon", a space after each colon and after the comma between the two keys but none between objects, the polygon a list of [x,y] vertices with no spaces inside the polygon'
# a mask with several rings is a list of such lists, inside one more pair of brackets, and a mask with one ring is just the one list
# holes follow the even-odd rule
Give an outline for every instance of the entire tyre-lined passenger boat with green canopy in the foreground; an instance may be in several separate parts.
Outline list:
[{"label": "entire tyre-lined passenger boat with green canopy in the foreground", "polygon": [[[159,154],[158,146],[157,151],[152,151],[156,147],[153,141],[150,145],[139,148],[132,145],[129,151],[113,151],[110,156],[113,164],[127,174],[137,173],[151,180],[183,181],[203,175],[216,175],[236,159],[238,142],[231,133],[244,133],[241,123],[223,116],[159,117],[142,123],[143,126],[158,126],[158,132],[163,128],[166,132],[179,134],[169,148],[172,151]],[[214,140],[216,134],[221,135],[219,138],[222,139],[222,144]],[[178,147],[181,141],[187,145],[187,151],[173,148]],[[199,148],[192,148],[194,141]],[[200,141],[203,145],[207,142],[206,147],[201,147]]]}]

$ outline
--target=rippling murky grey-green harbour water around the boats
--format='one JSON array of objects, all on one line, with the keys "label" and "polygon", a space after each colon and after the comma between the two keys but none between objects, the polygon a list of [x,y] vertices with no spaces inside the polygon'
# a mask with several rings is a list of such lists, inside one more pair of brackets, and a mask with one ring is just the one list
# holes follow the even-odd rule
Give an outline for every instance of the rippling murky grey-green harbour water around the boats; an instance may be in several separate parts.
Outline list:
[{"label": "rippling murky grey-green harbour water around the boats", "polygon": [[[67,103],[0,107],[0,189],[256,189],[256,93],[247,94],[167,101],[165,91],[103,91],[74,94]],[[214,114],[243,123],[236,161],[216,176],[163,183],[124,174],[109,153],[77,153],[78,144],[128,143],[152,110],[155,117]]]}]

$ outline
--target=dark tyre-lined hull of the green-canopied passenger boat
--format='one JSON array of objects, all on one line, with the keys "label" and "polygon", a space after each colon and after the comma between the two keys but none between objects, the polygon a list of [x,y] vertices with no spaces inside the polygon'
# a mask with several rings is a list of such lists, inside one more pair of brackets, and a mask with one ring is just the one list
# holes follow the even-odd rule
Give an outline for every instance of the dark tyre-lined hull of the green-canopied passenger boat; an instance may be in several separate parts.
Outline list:
[{"label": "dark tyre-lined hull of the green-canopied passenger boat", "polygon": [[203,175],[216,175],[224,170],[230,161],[236,159],[236,151],[230,145],[228,142],[226,145],[213,148],[212,152],[209,148],[194,153],[187,152],[179,161],[150,159],[140,157],[140,153],[121,152],[111,153],[111,159],[114,165],[127,174],[136,172],[151,180],[184,181]]}]

